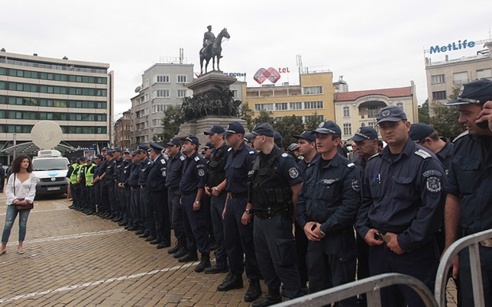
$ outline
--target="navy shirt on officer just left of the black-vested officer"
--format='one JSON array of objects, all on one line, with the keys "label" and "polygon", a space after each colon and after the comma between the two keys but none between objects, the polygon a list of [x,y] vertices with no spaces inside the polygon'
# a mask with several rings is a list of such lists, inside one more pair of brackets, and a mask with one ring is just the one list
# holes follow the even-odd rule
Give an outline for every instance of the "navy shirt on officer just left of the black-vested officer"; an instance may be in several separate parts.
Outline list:
[{"label": "navy shirt on officer just left of the black-vested officer", "polygon": [[256,151],[244,142],[237,150],[229,148],[226,162],[226,191],[236,194],[248,192],[248,172],[253,168],[256,156]]}]

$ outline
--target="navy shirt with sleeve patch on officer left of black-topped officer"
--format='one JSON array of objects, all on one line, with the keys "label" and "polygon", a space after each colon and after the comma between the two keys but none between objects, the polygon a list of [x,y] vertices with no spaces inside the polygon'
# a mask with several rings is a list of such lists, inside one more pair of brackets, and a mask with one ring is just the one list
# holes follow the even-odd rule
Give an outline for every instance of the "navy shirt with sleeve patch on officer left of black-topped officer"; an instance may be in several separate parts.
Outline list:
[{"label": "navy shirt with sleeve patch on officer left of black-topped officer", "polygon": [[207,171],[206,165],[205,158],[196,151],[189,158],[187,157],[183,164],[179,190],[181,192],[192,192],[198,188],[203,188],[205,186],[205,174]]}]

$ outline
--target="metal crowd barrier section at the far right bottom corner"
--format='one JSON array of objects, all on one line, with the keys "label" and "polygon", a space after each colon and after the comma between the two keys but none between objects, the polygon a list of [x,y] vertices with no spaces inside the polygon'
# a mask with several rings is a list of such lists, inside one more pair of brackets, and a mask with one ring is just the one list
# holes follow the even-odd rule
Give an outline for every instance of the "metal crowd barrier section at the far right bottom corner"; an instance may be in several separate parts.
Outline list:
[{"label": "metal crowd barrier section at the far right bottom corner", "polygon": [[448,281],[447,273],[449,272],[451,262],[455,256],[466,247],[468,247],[470,255],[471,285],[473,287],[473,299],[475,301],[475,306],[485,306],[479,243],[482,240],[490,238],[492,238],[492,229],[470,234],[457,240],[444,252],[437,269],[436,286],[434,288],[434,295],[440,306],[444,307],[446,305],[446,284]]}]

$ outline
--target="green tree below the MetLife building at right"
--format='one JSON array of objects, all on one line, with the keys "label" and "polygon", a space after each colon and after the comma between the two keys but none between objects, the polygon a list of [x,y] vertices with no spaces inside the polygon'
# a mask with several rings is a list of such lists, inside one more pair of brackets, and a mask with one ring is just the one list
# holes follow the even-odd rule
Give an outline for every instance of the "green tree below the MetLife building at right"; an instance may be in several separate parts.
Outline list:
[{"label": "green tree below the MetLife building at right", "polygon": [[[456,99],[459,91],[459,85],[453,87],[453,91],[449,95],[449,100]],[[457,107],[444,106],[439,102],[433,102],[430,104],[430,109],[434,115],[430,118],[430,124],[441,137],[453,140],[465,130],[465,127],[458,122],[460,113]]]}]

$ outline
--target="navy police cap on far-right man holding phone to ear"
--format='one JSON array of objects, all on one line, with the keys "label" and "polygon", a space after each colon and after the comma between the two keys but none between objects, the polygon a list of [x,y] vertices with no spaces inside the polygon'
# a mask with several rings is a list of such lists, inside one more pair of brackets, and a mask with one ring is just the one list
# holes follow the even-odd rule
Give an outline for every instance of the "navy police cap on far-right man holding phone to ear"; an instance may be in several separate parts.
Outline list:
[{"label": "navy police cap on far-right man holding phone to ear", "polygon": [[492,81],[480,79],[461,86],[458,98],[444,103],[446,106],[476,103],[483,105],[492,100]]}]

